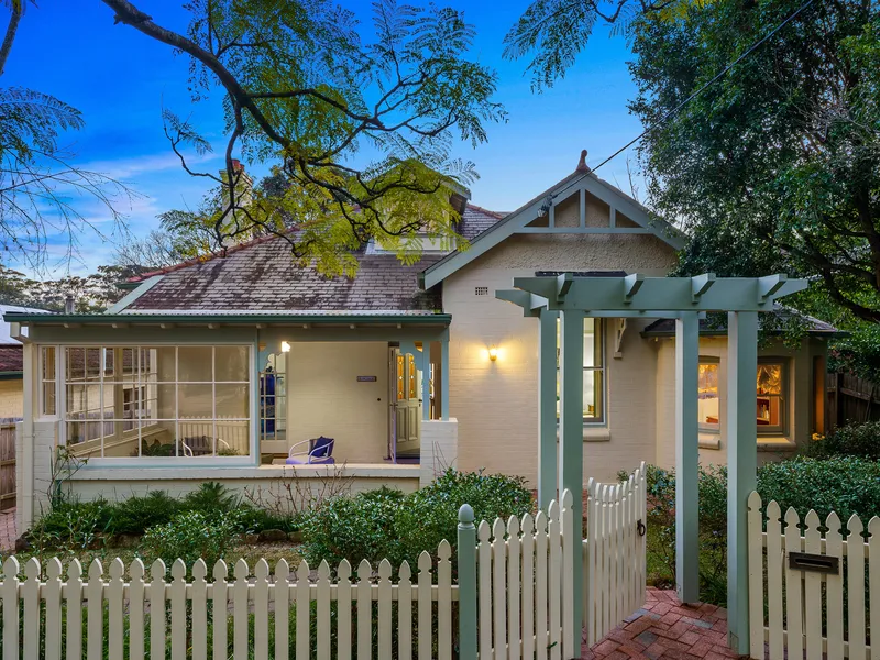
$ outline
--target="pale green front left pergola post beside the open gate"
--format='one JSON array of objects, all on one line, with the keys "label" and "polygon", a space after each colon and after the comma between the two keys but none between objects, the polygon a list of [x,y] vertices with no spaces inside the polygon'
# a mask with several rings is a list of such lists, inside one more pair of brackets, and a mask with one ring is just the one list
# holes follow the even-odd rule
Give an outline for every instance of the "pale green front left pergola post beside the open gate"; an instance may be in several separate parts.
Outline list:
[{"label": "pale green front left pergola post beside the open gate", "polygon": [[[574,537],[575,548],[583,538],[584,484],[584,311],[560,312],[560,410],[559,410],[559,494],[566,488],[572,494],[572,529],[564,530]],[[582,561],[573,562],[575,622],[583,620]]]}]

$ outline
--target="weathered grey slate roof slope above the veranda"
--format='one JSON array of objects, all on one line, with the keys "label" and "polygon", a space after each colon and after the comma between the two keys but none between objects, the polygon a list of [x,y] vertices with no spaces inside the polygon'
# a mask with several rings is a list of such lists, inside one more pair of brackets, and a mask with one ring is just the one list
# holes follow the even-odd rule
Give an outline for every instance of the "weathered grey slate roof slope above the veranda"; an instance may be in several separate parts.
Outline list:
[{"label": "weathered grey slate roof slope above the veranda", "polygon": [[124,311],[432,311],[441,307],[439,292],[419,290],[419,274],[436,258],[407,266],[394,255],[362,254],[355,278],[329,278],[297,266],[286,241],[266,239],[223,258],[166,270]]}]

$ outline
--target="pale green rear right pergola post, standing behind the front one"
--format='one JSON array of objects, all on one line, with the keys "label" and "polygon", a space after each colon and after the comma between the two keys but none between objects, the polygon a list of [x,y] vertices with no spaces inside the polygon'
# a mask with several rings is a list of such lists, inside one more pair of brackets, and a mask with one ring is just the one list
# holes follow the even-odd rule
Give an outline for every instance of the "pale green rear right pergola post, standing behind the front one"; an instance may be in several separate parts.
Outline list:
[{"label": "pale green rear right pergola post, standing behind the front one", "polygon": [[700,318],[675,319],[675,590],[682,603],[700,600],[700,441],[697,377]]}]

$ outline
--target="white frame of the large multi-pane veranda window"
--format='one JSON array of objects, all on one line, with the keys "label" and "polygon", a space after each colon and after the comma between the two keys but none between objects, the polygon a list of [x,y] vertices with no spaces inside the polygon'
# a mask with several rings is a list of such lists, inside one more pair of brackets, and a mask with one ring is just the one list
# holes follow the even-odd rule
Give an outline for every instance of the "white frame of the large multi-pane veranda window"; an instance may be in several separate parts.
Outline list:
[{"label": "white frame of the large multi-pane veranda window", "polygon": [[[136,457],[105,457],[105,435],[101,433],[100,438],[92,439],[92,440],[85,440],[84,442],[77,443],[75,446],[70,446],[68,440],[68,410],[67,410],[67,350],[68,349],[133,349],[138,351],[139,349],[157,349],[157,348],[165,348],[165,349],[175,349],[175,366],[174,366],[174,382],[170,383],[174,385],[175,389],[175,443],[177,442],[177,436],[179,436],[179,404],[178,404],[178,386],[180,382],[177,380],[178,374],[178,352],[177,349],[187,349],[187,348],[210,348],[212,350],[212,356],[216,355],[215,349],[217,348],[224,348],[224,346],[239,346],[248,349],[248,366],[246,366],[246,374],[248,374],[248,409],[249,415],[246,419],[242,419],[245,421],[245,428],[248,429],[249,441],[248,441],[248,455],[233,455],[233,457],[223,457],[223,455],[204,455],[204,457],[186,457],[186,455],[174,455],[174,457],[144,457],[140,455],[141,452],[141,441],[143,439],[140,429],[142,427],[138,426],[139,435],[135,439],[138,443],[138,451],[139,455]],[[56,418],[58,419],[58,444],[67,448],[81,446],[85,442],[99,442],[100,452],[97,455],[87,455],[82,457],[84,466],[88,468],[88,465],[92,465],[95,468],[109,468],[109,466],[118,466],[118,468],[206,468],[209,465],[229,465],[229,466],[254,466],[260,464],[260,443],[258,443],[258,431],[260,431],[260,413],[258,413],[258,403],[260,403],[260,394],[258,394],[258,378],[254,377],[255,372],[255,364],[257,359],[257,351],[254,343],[246,342],[246,341],[215,341],[211,343],[206,342],[173,342],[173,341],[141,341],[141,342],[119,342],[119,343],[111,343],[107,341],[99,341],[99,342],[86,342],[86,341],[77,341],[70,343],[63,343],[56,345],[56,396],[57,396],[57,404],[56,404]],[[215,410],[215,418],[211,420],[213,424],[213,428],[217,428],[217,419],[216,419],[216,387],[218,382],[215,380],[215,360],[211,362],[211,381],[200,383],[204,385],[211,385],[212,388],[212,402],[211,408]],[[42,373],[42,372],[41,372]],[[100,369],[100,383],[103,384],[105,378],[105,370],[103,364],[101,364]],[[88,367],[86,366],[85,374],[88,374]],[[162,382],[164,384],[168,384],[167,382]],[[189,383],[187,381],[186,383]],[[232,383],[231,381],[222,381],[220,384]],[[132,383],[130,383],[132,384]],[[158,381],[153,385],[157,385]],[[245,382],[235,382],[235,384],[244,385]],[[136,387],[144,386],[147,387],[150,383],[141,383],[139,377],[138,382],[133,383]],[[147,397],[148,398],[148,397]],[[101,395],[100,395],[100,404],[103,405],[103,387],[101,387]],[[255,408],[256,407],[256,408]],[[103,408],[101,408],[103,410]],[[139,408],[139,410],[141,410]],[[135,420],[140,419],[135,417]],[[238,419],[238,418],[237,418]],[[75,421],[75,420],[74,420]],[[108,422],[110,420],[107,420]],[[121,421],[124,422],[125,420],[117,420],[116,418],[112,420],[113,422]],[[163,421],[163,420],[160,420]],[[215,438],[217,437],[217,432],[213,433]],[[217,450],[216,450],[217,451]]]}]

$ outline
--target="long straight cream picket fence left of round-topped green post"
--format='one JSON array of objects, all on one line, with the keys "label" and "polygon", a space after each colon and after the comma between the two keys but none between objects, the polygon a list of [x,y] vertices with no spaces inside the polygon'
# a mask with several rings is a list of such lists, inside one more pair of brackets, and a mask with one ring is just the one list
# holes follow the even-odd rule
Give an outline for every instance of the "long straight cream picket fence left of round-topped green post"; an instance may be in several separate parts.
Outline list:
[{"label": "long straight cream picket fence left of round-topped green post", "polygon": [[[332,651],[336,658],[349,660],[356,651],[358,660],[386,659],[393,657],[396,627],[395,658],[451,660],[452,603],[458,600],[458,586],[452,584],[451,548],[447,541],[440,543],[438,558],[435,565],[424,552],[415,580],[409,564],[404,562],[396,582],[392,581],[392,564],[387,560],[380,563],[377,574],[369,562],[361,562],[353,580],[348,561],[340,563],[336,578],[331,578],[330,566],[323,561],[317,579],[312,579],[305,561],[293,573],[283,559],[274,575],[264,559],[256,563],[253,573],[244,560],[239,560],[231,581],[223,561],[215,565],[213,580],[208,579],[205,562],[197,561],[193,579],[187,581],[186,566],[178,559],[172,565],[168,581],[161,560],[153,563],[148,576],[143,563],[134,560],[127,580],[119,558],[110,563],[109,576],[105,575],[101,562],[95,560],[85,582],[82,568],[76,560],[70,562],[64,580],[57,559],[46,563],[45,576],[40,562],[30,559],[24,565],[25,580],[20,582],[19,562],[9,558],[0,584],[2,658],[100,660],[107,648],[109,660],[123,660],[123,656],[131,660],[145,657],[164,660],[169,647],[172,660],[246,659],[251,648],[256,660],[312,657],[330,660],[331,640],[336,637]],[[334,616],[331,616],[332,603],[336,603]],[[42,630],[41,607],[45,608]],[[293,630],[290,609],[295,610]],[[396,620],[392,620],[393,614]],[[62,626],[66,628],[64,648]],[[270,626],[274,627],[274,648],[270,648]],[[415,652],[414,630],[418,631]],[[290,653],[292,639],[294,653]],[[41,640],[45,644],[44,652]]]}]

